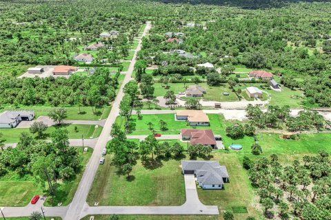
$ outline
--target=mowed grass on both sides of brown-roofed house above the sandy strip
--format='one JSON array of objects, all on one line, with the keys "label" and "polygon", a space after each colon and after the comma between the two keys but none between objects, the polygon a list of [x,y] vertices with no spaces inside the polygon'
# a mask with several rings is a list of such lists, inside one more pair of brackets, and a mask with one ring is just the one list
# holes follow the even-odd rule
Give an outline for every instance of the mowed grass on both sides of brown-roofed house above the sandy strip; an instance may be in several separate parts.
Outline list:
[{"label": "mowed grass on both sides of brown-roofed house above the sandy strip", "polygon": [[[163,84],[164,85],[164,84]],[[194,83],[186,83],[185,86],[194,85]],[[236,101],[238,100],[236,94],[226,84],[217,85],[210,87],[207,83],[199,83],[199,85],[206,90],[206,94],[203,95],[204,100],[214,100],[214,101]],[[185,91],[183,83],[168,83],[169,89],[162,87],[161,83],[154,83],[153,87],[154,96],[164,96],[167,91],[174,91],[174,94],[179,94],[179,92]],[[223,92],[228,92],[229,96],[223,96]]]}]

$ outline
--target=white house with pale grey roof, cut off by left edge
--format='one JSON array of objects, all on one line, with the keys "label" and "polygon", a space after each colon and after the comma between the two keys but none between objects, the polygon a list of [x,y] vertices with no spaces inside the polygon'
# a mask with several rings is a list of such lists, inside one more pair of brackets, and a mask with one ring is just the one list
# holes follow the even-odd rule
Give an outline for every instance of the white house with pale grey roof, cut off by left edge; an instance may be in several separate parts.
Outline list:
[{"label": "white house with pale grey roof, cut off by left edge", "polygon": [[11,129],[21,121],[30,121],[34,118],[34,111],[4,111],[0,114],[0,128]]}]

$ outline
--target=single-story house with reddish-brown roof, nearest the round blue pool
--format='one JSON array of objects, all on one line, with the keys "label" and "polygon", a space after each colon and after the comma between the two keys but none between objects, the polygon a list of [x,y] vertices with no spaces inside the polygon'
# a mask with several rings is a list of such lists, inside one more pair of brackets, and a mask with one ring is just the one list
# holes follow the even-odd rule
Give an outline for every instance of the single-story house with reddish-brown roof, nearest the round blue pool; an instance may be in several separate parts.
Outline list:
[{"label": "single-story house with reddish-brown roof, nearest the round blue pool", "polygon": [[183,140],[190,140],[190,144],[203,144],[217,148],[212,129],[181,129],[181,138]]}]

